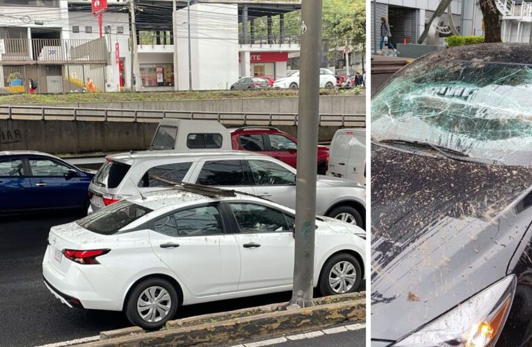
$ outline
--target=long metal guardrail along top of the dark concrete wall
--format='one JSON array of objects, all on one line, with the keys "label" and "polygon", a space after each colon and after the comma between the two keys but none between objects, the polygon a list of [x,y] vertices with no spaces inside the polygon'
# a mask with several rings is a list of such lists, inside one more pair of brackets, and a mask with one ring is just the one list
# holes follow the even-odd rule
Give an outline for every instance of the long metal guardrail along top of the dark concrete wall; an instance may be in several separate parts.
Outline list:
[{"label": "long metal guardrail along top of the dark concrete wall", "polygon": [[[298,125],[298,115],[295,113],[127,110],[0,105],[0,119],[159,122],[165,118],[216,120],[221,124],[244,126]],[[320,126],[365,128],[366,115],[321,114]]]}]

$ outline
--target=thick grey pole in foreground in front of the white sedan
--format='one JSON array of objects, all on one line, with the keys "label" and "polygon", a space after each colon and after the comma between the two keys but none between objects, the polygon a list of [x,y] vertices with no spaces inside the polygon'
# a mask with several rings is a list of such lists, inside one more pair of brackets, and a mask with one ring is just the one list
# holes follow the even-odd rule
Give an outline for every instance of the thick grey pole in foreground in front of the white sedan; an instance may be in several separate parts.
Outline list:
[{"label": "thick grey pole in foreground in front of the white sedan", "polygon": [[301,5],[301,69],[298,117],[298,176],[296,186],[296,250],[291,305],[308,307],[314,288],[316,234],[316,162],[319,128],[322,0]]}]

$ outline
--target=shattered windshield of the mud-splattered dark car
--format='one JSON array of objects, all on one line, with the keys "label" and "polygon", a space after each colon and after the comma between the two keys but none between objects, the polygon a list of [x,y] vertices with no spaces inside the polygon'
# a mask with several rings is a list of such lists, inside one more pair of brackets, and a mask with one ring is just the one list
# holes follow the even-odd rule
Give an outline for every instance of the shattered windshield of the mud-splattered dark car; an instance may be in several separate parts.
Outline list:
[{"label": "shattered windshield of the mud-splattered dark car", "polygon": [[532,65],[414,62],[373,96],[371,137],[532,165]]}]

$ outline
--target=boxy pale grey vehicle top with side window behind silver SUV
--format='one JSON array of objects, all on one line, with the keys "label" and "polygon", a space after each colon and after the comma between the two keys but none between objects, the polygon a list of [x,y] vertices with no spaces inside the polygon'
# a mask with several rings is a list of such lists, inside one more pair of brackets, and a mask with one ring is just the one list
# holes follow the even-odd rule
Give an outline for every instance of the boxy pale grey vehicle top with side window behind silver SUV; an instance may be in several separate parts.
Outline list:
[{"label": "boxy pale grey vehicle top with side window behind silver SUV", "polygon": [[170,149],[232,149],[231,132],[218,121],[163,119],[150,151]]}]

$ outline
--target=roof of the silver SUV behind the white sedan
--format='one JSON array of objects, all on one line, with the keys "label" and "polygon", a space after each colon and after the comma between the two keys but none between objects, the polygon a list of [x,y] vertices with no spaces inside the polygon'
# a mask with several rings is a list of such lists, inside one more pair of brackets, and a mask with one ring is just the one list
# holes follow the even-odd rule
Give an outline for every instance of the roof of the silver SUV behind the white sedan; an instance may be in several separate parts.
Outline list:
[{"label": "roof of the silver SUV behind the white sedan", "polygon": [[216,150],[211,149],[195,149],[193,151],[141,151],[141,152],[129,152],[118,153],[108,155],[108,159],[118,161],[128,160],[159,160],[164,158],[205,158],[205,157],[227,157],[234,156],[235,158],[241,158],[243,156],[256,155],[258,157],[270,158],[267,155],[249,152],[249,151],[232,151],[232,150]]}]

